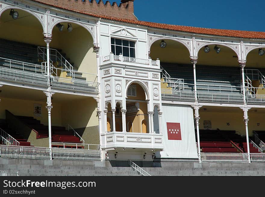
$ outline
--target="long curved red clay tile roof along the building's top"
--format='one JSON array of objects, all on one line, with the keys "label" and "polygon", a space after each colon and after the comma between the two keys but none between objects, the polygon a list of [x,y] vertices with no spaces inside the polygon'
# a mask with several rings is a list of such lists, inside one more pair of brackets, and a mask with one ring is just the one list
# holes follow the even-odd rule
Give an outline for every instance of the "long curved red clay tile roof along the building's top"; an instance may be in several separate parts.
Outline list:
[{"label": "long curved red clay tile roof along the building's top", "polygon": [[62,8],[56,5],[51,5],[48,3],[39,2],[38,0],[32,0],[32,1],[42,3],[45,5],[49,5],[55,8],[73,11],[73,12],[80,13],[80,14],[86,14],[92,17],[97,17],[97,18],[107,19],[107,20],[115,20],[115,21],[120,21],[124,23],[130,23],[130,24],[147,26],[147,27],[158,28],[158,29],[167,29],[167,30],[189,32],[189,33],[195,33],[195,34],[219,35],[219,36],[228,36],[228,37],[237,37],[237,38],[265,39],[265,32],[252,32],[252,31],[228,30],[228,29],[209,29],[209,28],[201,28],[201,27],[190,27],[190,26],[145,22],[145,21],[140,21],[140,20],[129,20],[129,19],[116,18],[116,17],[109,17],[105,15],[100,15],[100,14],[92,14],[92,13],[87,13],[87,12],[83,12],[79,10],[71,10],[71,9]]}]

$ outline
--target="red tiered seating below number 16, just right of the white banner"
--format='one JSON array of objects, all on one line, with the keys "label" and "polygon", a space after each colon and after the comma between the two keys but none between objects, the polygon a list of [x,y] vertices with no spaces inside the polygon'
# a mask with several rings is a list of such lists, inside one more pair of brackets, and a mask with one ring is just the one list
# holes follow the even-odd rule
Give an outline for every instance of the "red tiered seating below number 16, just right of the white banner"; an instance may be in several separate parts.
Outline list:
[{"label": "red tiered seating below number 16, just right of the white banner", "polygon": [[201,152],[239,152],[239,149],[221,132],[218,130],[200,130]]}]

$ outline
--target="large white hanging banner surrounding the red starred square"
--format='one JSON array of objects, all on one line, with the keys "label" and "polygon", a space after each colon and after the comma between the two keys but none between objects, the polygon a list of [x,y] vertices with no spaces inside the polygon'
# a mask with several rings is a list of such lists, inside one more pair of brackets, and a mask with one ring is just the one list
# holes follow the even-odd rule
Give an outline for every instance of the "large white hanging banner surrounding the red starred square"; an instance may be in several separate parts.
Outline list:
[{"label": "large white hanging banner surrounding the red starred square", "polygon": [[[192,107],[164,103],[161,111],[164,150],[157,152],[156,157],[198,158]],[[167,122],[180,123],[181,140],[168,140]]]}]

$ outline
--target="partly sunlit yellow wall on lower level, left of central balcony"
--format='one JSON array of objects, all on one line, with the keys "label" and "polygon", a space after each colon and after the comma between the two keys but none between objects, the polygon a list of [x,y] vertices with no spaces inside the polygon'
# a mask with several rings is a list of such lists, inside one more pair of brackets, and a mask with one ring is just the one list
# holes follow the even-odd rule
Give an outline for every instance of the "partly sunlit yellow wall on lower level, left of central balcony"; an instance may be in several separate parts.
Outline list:
[{"label": "partly sunlit yellow wall on lower level, left of central balcony", "polygon": [[64,126],[84,128],[98,125],[97,102],[92,97],[64,102],[61,110]]}]

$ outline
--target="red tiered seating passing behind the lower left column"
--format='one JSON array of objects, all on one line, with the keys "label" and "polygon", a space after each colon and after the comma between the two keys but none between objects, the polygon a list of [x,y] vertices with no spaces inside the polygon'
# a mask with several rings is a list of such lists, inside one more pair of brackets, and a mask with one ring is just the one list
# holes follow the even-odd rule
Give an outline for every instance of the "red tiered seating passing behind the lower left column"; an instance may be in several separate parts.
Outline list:
[{"label": "red tiered seating passing behind the lower left column", "polygon": [[[38,133],[38,138],[48,137],[48,126],[40,123],[39,120],[34,119],[29,116],[16,116],[21,121],[23,121],[30,128],[34,129]],[[73,132],[66,131],[65,127],[52,126],[51,127],[51,142],[53,143],[71,143],[71,144],[58,144],[52,145],[52,147],[66,147],[66,148],[76,148],[76,144],[82,144],[79,137],[73,135]],[[83,148],[84,146],[78,145],[77,148]]]}]

